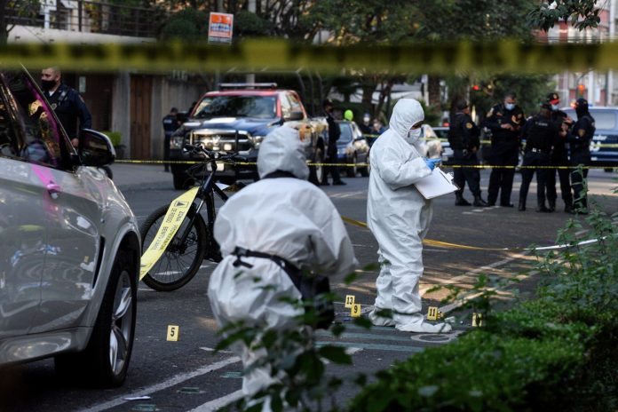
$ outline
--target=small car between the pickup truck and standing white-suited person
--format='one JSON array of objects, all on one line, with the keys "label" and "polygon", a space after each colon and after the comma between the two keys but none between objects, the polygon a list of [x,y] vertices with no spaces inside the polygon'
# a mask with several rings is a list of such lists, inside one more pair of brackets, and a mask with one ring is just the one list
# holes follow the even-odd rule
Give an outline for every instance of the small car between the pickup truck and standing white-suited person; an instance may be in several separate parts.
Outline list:
[{"label": "small car between the pickup truck and standing white-suited person", "polygon": [[341,131],[337,140],[337,160],[340,163],[353,164],[353,166],[343,167],[342,171],[345,171],[348,178],[353,178],[358,173],[361,173],[362,177],[368,177],[368,166],[356,166],[357,163],[367,164],[369,161],[369,145],[362,136],[359,126],[346,120],[337,123]]}]

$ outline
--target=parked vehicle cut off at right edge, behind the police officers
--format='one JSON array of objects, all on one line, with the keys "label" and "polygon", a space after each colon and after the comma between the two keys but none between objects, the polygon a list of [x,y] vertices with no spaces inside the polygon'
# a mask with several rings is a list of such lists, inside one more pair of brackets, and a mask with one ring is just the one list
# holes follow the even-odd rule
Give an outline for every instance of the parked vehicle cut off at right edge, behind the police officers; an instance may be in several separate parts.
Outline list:
[{"label": "parked vehicle cut off at right edge, behind the police officers", "polygon": [[[577,120],[574,108],[564,107],[562,110]],[[597,128],[590,141],[592,166],[612,171],[618,167],[618,107],[590,107],[589,110]]]}]

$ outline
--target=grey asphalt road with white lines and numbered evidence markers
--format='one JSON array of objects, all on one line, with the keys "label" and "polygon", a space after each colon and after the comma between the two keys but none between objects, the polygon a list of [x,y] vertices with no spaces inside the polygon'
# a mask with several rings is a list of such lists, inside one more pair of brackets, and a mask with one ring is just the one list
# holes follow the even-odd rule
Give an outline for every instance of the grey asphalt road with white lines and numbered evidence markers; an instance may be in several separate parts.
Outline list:
[{"label": "grey asphalt road with white lines and numbered evidence markers", "polygon": [[[119,172],[126,170],[115,170],[115,175],[118,176]],[[612,181],[614,177],[615,174],[602,170],[590,173],[591,197],[599,202],[601,209],[610,213],[618,210],[618,195],[611,194],[611,189],[618,186]],[[488,171],[484,170],[483,188],[487,187],[487,178]],[[513,202],[518,198],[519,180],[518,175]],[[346,181],[347,186],[327,186],[324,190],[343,216],[365,221],[368,178],[347,178]],[[180,194],[172,189],[171,181],[168,185],[130,183],[122,187],[140,221]],[[526,212],[499,207],[456,207],[453,196],[443,196],[434,202],[429,239],[509,250],[466,250],[426,245],[425,274],[421,283],[424,305],[439,306],[441,310],[450,308],[440,304],[440,298],[445,297],[446,292],[426,293],[434,285],[455,284],[470,288],[479,273],[513,278],[534,265],[535,258],[522,249],[531,244],[553,245],[559,228],[568,218],[573,218],[561,211],[536,213],[534,190],[535,184],[528,194]],[[471,197],[469,193],[467,197]],[[559,210],[561,207],[559,201]],[[347,228],[361,265],[376,262],[376,241],[368,230],[358,226]],[[56,378],[52,361],[37,361],[13,370],[11,384],[0,388],[0,410],[213,410],[234,399],[241,387],[242,364],[231,353],[214,353],[212,350],[218,342],[217,325],[211,316],[206,294],[212,268],[211,264],[204,262],[193,281],[171,293],[155,292],[140,283],[136,341],[129,376],[123,387],[102,391],[70,385]],[[360,303],[366,312],[375,297],[376,273],[360,269],[359,275],[350,288],[345,288],[341,279],[334,279],[331,283],[342,297],[354,295],[356,303]],[[530,291],[530,282],[534,278],[527,280],[519,285],[524,295]],[[457,318],[455,330],[440,337],[403,333],[392,328],[358,329],[350,324],[343,305],[337,305],[337,321],[348,326],[346,334],[335,339],[327,332],[320,332],[318,341],[350,348],[353,366],[331,367],[330,373],[351,380],[359,372],[372,374],[388,368],[394,361],[406,359],[426,346],[443,345],[470,328],[471,320],[469,315]],[[178,342],[166,340],[168,325],[179,327]],[[353,385],[346,386],[338,396],[339,402],[344,403],[355,391]],[[148,398],[128,400],[140,396]]]}]

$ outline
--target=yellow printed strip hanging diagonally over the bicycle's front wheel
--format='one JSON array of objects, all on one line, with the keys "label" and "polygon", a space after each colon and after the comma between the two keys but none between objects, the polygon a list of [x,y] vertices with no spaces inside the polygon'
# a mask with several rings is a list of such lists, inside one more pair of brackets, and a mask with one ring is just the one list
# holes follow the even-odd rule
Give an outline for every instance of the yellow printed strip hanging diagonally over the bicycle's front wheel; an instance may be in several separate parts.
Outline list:
[{"label": "yellow printed strip hanging diagonally over the bicycle's front wheel", "polygon": [[161,227],[156,232],[155,239],[141,257],[141,265],[139,265],[140,281],[162,257],[163,252],[182,226],[182,221],[186,217],[186,212],[191,208],[198,190],[199,187],[195,186],[171,201]]}]

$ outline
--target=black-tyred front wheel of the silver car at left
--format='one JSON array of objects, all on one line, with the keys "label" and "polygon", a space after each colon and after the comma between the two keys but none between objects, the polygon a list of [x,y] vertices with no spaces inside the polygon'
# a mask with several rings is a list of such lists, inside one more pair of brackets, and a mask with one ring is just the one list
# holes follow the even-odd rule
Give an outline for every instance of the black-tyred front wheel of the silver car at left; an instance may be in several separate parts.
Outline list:
[{"label": "black-tyred front wheel of the silver car at left", "polygon": [[56,356],[60,376],[107,388],[123,384],[133,349],[137,294],[135,265],[119,250],[88,346],[81,353]]}]

